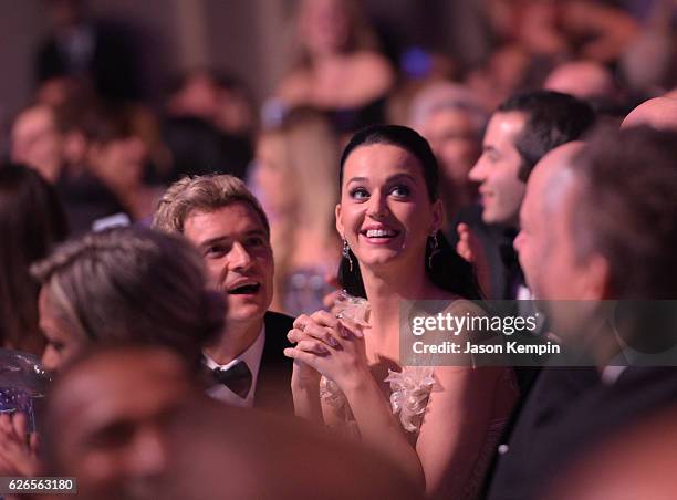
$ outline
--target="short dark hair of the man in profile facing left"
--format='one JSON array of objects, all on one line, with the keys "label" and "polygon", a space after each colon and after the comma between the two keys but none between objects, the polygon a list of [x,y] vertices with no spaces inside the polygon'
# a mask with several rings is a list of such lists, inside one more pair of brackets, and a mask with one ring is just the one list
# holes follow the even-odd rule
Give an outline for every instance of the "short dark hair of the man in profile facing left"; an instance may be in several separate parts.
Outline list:
[{"label": "short dark hair of the man in profile facing left", "polygon": [[514,147],[522,157],[519,177],[524,181],[545,153],[581,138],[595,123],[595,112],[590,104],[561,92],[514,95],[497,108],[497,113],[510,112],[527,115],[524,128],[514,139]]}]

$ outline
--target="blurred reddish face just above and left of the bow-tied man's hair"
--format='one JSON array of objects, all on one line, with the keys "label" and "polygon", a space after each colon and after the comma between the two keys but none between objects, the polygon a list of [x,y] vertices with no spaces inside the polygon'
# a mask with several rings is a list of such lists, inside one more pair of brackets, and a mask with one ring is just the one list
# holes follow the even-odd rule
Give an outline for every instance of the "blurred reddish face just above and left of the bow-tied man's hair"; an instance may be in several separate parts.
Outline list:
[{"label": "blurred reddish face just above and left of the bow-tied man's hair", "polygon": [[93,145],[90,163],[95,174],[108,186],[134,189],[142,184],[146,147],[138,137]]}]

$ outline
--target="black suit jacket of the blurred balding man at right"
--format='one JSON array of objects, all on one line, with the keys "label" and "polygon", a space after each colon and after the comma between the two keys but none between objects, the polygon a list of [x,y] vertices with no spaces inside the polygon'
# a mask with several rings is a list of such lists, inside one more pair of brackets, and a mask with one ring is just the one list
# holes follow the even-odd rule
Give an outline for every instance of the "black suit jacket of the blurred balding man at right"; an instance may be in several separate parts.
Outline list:
[{"label": "black suit jacket of the blurred balding man at right", "polygon": [[677,367],[631,366],[613,385],[603,384],[594,368],[543,369],[488,498],[541,498],[558,473],[601,440],[676,402]]}]

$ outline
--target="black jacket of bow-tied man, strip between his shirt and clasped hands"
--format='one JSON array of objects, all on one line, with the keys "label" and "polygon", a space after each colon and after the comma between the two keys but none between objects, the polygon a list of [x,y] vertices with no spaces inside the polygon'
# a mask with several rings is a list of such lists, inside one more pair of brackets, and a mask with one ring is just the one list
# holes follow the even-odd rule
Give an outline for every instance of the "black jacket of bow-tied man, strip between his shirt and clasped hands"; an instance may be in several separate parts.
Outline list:
[{"label": "black jacket of bow-tied man, strip between his shirt and clasped hands", "polygon": [[259,378],[254,393],[254,407],[278,413],[293,414],[294,403],[291,394],[292,360],[282,351],[293,345],[287,340],[294,319],[287,314],[268,311],[265,344],[259,366]]}]

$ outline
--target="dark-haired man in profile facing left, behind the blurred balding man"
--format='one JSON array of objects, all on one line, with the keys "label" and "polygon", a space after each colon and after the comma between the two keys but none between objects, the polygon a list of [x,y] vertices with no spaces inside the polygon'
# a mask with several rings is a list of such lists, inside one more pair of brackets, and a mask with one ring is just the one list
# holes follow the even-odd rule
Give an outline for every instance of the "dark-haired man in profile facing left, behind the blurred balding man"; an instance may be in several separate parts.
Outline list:
[{"label": "dark-haired man in profile facing left, behind the blurred balding man", "polygon": [[[459,225],[458,233],[459,253],[473,259],[478,272],[489,273],[492,288],[498,288],[489,294],[492,299],[529,296],[512,250],[527,179],[549,150],[579,139],[594,121],[590,105],[550,91],[510,97],[491,115],[482,154],[468,177],[479,183],[481,218],[492,228],[492,246],[480,250],[473,230],[466,225]],[[470,256],[464,246],[470,247]]]}]

